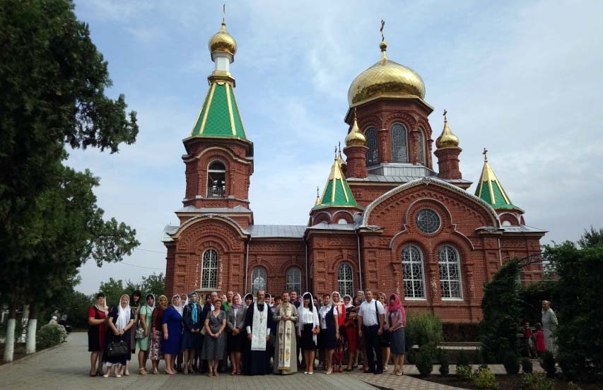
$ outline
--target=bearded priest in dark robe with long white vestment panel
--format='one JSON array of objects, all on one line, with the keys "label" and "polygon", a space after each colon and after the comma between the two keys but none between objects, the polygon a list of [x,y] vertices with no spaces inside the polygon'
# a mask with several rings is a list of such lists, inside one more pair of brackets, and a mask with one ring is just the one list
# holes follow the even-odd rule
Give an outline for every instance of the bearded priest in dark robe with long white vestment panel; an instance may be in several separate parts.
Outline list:
[{"label": "bearded priest in dark robe with long white vestment panel", "polygon": [[251,341],[251,350],[247,360],[247,375],[270,374],[270,325],[272,324],[272,310],[264,301],[264,290],[258,290],[255,302],[247,308],[245,313],[245,328],[247,339]]}]

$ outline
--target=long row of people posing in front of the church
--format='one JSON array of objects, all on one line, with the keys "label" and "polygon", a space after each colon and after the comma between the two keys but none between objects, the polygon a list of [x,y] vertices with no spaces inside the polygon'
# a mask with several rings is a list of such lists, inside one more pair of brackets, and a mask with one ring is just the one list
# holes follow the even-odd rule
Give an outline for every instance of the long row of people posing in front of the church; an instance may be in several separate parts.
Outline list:
[{"label": "long row of people posing in front of the church", "polygon": [[[108,307],[98,293],[88,311],[90,377],[129,375],[131,356],[139,350],[139,374],[206,373],[217,377],[230,360],[231,375],[313,374],[316,358],[325,374],[351,371],[362,354],[364,372],[404,374],[406,312],[396,294],[356,297],[336,291],[314,297],[296,291],[271,297],[264,290],[242,298],[229,291],[200,297],[136,290]],[[202,302],[201,302],[202,300]],[[318,352],[318,355],[317,355]],[[106,365],[106,370],[103,366]]]}]

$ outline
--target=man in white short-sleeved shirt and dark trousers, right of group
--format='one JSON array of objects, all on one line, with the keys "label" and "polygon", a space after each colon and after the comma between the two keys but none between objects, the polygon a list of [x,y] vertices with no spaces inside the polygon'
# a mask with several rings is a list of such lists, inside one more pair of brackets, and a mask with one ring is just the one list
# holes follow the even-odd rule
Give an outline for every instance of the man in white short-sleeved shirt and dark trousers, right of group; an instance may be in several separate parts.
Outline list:
[{"label": "man in white short-sleeved shirt and dark trousers, right of group", "polygon": [[[379,338],[383,333],[385,309],[383,308],[383,305],[381,305],[381,302],[373,299],[373,290],[365,290],[364,295],[365,301],[360,305],[360,311],[358,312],[358,336],[362,337],[364,334],[368,372],[382,374],[383,358],[381,355]],[[375,355],[377,355],[376,366]]]}]

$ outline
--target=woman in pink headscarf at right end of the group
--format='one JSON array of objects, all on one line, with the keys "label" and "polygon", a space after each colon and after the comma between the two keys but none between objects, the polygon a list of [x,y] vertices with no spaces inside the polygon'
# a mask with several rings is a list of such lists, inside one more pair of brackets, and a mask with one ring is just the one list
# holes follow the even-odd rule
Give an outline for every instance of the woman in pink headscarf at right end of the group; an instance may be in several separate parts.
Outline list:
[{"label": "woman in pink headscarf at right end of the group", "polygon": [[385,312],[385,325],[383,333],[390,335],[390,348],[394,355],[394,372],[397,376],[404,375],[404,353],[406,342],[404,340],[404,326],[406,326],[406,312],[397,294],[390,295]]}]

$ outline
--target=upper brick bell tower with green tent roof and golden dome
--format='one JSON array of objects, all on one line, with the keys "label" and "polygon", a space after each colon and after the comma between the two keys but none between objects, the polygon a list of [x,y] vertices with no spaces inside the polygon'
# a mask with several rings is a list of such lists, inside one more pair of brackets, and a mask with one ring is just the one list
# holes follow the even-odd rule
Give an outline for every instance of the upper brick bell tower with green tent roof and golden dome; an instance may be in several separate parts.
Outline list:
[{"label": "upper brick bell tower with green tent roof and golden dome", "polygon": [[253,143],[247,139],[230,64],[237,43],[226,30],[226,21],[209,39],[215,69],[207,78],[209,89],[189,137],[183,140],[187,153],[184,208],[180,222],[198,214],[226,215],[242,228],[253,223],[249,186],[253,173]]}]

